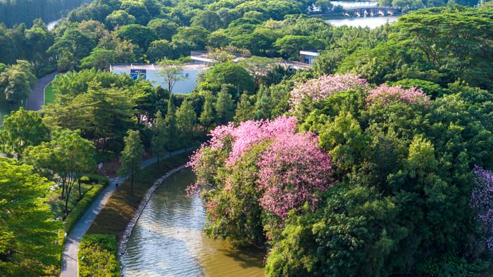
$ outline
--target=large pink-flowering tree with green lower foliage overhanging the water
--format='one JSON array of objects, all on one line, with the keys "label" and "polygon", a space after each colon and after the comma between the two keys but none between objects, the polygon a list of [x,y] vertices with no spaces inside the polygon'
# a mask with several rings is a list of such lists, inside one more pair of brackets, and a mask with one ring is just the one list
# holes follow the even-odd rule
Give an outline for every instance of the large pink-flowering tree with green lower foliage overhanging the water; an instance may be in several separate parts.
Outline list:
[{"label": "large pink-flowering tree with green lower foliage overhanging the water", "polygon": [[187,191],[204,196],[209,234],[260,243],[263,213],[282,224],[289,210],[317,205],[320,192],[331,186],[330,155],[318,147],[317,136],[296,127],[295,117],[218,127],[192,155],[197,181]]}]

